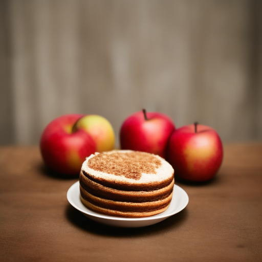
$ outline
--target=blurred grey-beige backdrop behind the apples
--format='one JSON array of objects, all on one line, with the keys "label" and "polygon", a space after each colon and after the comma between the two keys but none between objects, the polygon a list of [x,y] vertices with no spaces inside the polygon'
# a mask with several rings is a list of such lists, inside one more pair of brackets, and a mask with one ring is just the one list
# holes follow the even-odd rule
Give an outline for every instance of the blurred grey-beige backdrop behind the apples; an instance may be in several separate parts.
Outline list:
[{"label": "blurred grey-beige backdrop behind the apples", "polygon": [[69,113],[146,108],[262,139],[262,1],[1,0],[0,144]]}]

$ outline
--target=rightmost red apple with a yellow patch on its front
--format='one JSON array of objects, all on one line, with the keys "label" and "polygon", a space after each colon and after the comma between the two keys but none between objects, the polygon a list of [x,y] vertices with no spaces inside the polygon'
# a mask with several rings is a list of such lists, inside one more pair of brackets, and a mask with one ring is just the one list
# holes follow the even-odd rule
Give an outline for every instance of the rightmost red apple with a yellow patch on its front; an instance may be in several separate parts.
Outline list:
[{"label": "rightmost red apple with a yellow patch on its front", "polygon": [[186,125],[172,133],[167,160],[182,179],[204,182],[213,178],[223,160],[223,146],[216,131],[206,125]]}]

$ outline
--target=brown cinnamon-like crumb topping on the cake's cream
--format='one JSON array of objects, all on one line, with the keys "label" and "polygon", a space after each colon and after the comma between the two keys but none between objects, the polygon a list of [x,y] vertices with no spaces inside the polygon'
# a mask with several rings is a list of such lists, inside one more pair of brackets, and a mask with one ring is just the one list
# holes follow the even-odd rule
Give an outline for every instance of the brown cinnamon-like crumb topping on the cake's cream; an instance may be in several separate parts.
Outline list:
[{"label": "brown cinnamon-like crumb topping on the cake's cream", "polygon": [[139,180],[142,173],[156,174],[161,161],[145,152],[115,151],[111,154],[101,153],[94,156],[89,160],[88,166],[97,171]]}]

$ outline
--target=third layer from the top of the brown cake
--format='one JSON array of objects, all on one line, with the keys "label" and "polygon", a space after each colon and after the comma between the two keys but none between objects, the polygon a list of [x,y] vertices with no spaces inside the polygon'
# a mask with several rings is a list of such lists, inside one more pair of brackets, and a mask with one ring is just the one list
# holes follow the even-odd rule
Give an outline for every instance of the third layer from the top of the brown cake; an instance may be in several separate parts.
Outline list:
[{"label": "third layer from the top of the brown cake", "polygon": [[151,212],[156,211],[159,209],[163,209],[164,207],[168,206],[171,199],[172,199],[172,192],[169,196],[165,199],[154,201],[154,202],[142,202],[142,203],[134,203],[134,202],[119,202],[107,199],[101,199],[95,197],[94,195],[90,194],[89,192],[85,191],[80,186],[80,194],[82,199],[85,201],[110,210],[116,210],[121,212]]}]

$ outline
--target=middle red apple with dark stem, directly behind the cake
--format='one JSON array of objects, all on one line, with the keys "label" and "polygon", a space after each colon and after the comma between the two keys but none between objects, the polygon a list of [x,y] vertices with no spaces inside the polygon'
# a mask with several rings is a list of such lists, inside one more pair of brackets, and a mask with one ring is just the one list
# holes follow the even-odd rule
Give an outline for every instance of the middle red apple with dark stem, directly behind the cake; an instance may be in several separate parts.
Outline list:
[{"label": "middle red apple with dark stem, directly behind the cake", "polygon": [[149,152],[165,158],[166,144],[174,129],[173,121],[164,114],[137,112],[127,117],[121,126],[121,149]]}]

